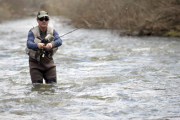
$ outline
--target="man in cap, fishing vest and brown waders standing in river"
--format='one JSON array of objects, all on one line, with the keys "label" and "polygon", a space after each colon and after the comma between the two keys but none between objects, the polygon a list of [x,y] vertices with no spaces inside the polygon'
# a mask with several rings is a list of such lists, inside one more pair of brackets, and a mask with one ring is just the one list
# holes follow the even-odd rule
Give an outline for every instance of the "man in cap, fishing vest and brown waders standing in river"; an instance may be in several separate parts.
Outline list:
[{"label": "man in cap, fishing vest and brown waders standing in river", "polygon": [[56,66],[53,55],[62,45],[59,34],[48,26],[49,16],[45,11],[38,12],[38,26],[28,33],[26,53],[29,55],[29,68],[32,83],[57,83]]}]

